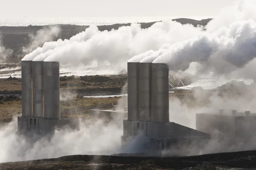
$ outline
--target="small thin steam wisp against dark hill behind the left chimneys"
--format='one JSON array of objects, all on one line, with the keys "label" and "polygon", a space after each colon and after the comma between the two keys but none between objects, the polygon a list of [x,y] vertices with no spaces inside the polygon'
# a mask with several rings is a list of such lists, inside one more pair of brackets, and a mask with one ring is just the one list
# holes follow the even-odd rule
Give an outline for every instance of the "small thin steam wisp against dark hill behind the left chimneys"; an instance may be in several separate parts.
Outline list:
[{"label": "small thin steam wisp against dark hill behind the left chimneys", "polygon": [[[48,26],[38,30],[36,34],[29,34],[29,41],[30,41],[29,45],[27,45],[26,47],[23,47],[22,52],[25,54],[28,54],[34,51],[36,48],[42,46],[44,42],[54,40],[56,37],[58,37],[60,32],[61,32],[61,28],[59,26]],[[34,54],[36,55],[40,53],[34,52]],[[30,54],[30,56],[31,55],[32,54]],[[29,60],[29,59],[26,59],[26,57],[24,57],[23,60]]]}]

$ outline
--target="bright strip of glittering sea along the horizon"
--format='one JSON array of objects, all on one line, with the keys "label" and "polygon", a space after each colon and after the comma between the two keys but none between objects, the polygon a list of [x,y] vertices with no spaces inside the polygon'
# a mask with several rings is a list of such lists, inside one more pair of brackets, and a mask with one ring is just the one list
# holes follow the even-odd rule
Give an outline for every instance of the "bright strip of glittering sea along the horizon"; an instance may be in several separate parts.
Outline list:
[{"label": "bright strip of glittering sea along the horizon", "polygon": [[[149,23],[160,20],[172,20],[184,16],[161,17],[0,17],[0,26],[44,26],[55,24],[72,24],[79,26],[103,26],[118,23]],[[206,19],[207,16],[189,16],[194,20]],[[208,17],[210,18],[210,17]]]}]

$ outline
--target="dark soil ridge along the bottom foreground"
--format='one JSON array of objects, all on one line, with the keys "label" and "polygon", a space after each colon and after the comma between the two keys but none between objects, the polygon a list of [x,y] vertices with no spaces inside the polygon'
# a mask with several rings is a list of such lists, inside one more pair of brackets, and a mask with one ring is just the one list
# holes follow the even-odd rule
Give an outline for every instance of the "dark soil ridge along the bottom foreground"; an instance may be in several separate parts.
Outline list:
[{"label": "dark soil ridge along the bottom foreground", "polygon": [[217,153],[180,158],[73,155],[63,156],[56,159],[41,159],[0,164],[0,170],[227,170],[232,168],[233,170],[256,169],[256,151]]}]

